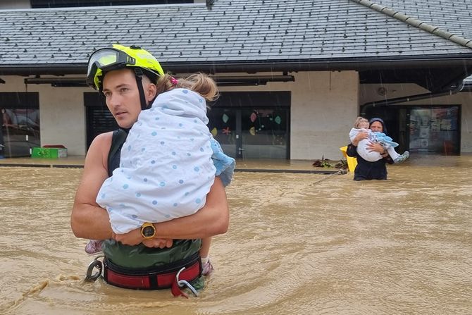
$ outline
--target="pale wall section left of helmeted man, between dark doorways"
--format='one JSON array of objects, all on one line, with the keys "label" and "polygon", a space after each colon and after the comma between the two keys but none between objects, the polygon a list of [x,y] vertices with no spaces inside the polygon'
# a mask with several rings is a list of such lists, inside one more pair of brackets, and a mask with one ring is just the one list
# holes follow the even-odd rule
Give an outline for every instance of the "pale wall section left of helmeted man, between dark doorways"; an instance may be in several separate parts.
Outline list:
[{"label": "pale wall section left of helmeted man, between dark doorways", "polygon": [[0,92],[39,92],[41,145],[63,144],[70,155],[85,155],[85,106],[77,87],[28,85],[22,77],[2,76]]}]

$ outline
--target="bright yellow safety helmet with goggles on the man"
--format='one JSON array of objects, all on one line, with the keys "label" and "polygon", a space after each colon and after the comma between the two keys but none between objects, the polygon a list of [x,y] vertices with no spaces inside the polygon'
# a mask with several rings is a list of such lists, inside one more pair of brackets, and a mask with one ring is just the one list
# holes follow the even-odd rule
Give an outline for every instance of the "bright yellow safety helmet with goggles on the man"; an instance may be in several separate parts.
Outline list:
[{"label": "bright yellow safety helmet with goggles on the man", "polygon": [[137,46],[113,44],[92,53],[87,69],[87,85],[101,91],[104,73],[123,68],[141,68],[152,82],[164,75],[161,64],[149,51]]}]

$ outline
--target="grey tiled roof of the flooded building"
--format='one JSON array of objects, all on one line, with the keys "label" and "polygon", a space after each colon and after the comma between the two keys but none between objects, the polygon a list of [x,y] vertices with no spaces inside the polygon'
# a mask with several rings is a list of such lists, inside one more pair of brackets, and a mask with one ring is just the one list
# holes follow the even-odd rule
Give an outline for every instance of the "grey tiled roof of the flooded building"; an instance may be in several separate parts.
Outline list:
[{"label": "grey tiled roof of the flooded building", "polygon": [[[444,6],[439,0],[375,1],[384,6],[398,3],[399,11],[472,37],[472,22],[464,13],[466,7],[471,11],[468,0],[448,2],[445,16],[439,13]],[[458,20],[451,7],[462,1],[456,8]],[[182,4],[0,11],[0,69],[85,66],[93,49],[113,42],[138,44],[164,64],[304,63],[472,53],[357,2],[216,0],[211,8]]]}]

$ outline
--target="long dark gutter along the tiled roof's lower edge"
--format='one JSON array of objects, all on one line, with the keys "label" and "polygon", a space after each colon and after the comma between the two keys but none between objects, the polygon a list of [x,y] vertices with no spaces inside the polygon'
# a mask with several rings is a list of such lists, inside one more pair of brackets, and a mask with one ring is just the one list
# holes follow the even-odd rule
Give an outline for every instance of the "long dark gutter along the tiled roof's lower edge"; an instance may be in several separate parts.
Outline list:
[{"label": "long dark gutter along the tiled roof's lower edge", "polygon": [[[174,73],[266,72],[266,71],[330,71],[330,70],[381,70],[392,68],[448,68],[452,66],[472,67],[471,54],[429,56],[426,58],[337,58],[322,60],[274,60],[254,62],[162,62],[163,68]],[[87,63],[59,63],[55,65],[30,64],[23,66],[0,66],[0,75],[77,75],[87,73]]]}]

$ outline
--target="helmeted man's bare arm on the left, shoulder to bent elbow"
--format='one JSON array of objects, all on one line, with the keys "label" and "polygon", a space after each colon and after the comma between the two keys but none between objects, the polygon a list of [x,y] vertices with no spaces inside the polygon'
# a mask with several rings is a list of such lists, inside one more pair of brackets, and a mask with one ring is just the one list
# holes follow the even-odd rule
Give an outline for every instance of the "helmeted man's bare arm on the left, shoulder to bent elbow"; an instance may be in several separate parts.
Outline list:
[{"label": "helmeted man's bare arm on the left, shoulder to bent elbow", "polygon": [[104,240],[112,235],[108,212],[95,200],[101,184],[108,178],[107,159],[112,132],[98,135],[85,157],[82,180],[75,193],[70,226],[76,237]]}]

